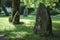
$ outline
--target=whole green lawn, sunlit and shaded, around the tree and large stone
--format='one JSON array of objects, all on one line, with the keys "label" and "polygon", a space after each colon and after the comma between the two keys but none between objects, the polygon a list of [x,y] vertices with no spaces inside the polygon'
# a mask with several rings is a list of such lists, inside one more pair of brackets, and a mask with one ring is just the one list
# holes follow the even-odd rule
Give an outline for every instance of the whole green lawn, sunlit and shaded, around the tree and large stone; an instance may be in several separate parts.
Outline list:
[{"label": "whole green lawn, sunlit and shaded, around the tree and large stone", "polygon": [[33,33],[35,16],[21,16],[21,22],[24,24],[13,25],[8,21],[9,17],[0,16],[0,34],[8,37],[8,40],[60,40],[60,19],[52,18],[53,37],[40,37]]}]

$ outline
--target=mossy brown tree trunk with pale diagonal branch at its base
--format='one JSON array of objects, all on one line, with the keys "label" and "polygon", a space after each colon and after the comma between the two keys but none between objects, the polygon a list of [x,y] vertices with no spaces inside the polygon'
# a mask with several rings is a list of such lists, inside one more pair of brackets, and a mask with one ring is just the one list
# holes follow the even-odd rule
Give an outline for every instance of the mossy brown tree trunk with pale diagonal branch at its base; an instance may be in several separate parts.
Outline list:
[{"label": "mossy brown tree trunk with pale diagonal branch at its base", "polygon": [[[10,20],[11,19],[11,20]],[[12,17],[10,22],[14,24],[19,24],[20,19],[20,0],[12,0]]]}]

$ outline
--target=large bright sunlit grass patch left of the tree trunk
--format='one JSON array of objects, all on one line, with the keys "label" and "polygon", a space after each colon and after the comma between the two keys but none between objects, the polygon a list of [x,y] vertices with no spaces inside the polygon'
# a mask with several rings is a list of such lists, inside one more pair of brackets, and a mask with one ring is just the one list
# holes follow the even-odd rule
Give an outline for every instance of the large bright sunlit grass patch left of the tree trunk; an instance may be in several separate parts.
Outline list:
[{"label": "large bright sunlit grass patch left of the tree trunk", "polygon": [[8,18],[0,18],[0,31],[15,30],[16,27],[8,22]]}]

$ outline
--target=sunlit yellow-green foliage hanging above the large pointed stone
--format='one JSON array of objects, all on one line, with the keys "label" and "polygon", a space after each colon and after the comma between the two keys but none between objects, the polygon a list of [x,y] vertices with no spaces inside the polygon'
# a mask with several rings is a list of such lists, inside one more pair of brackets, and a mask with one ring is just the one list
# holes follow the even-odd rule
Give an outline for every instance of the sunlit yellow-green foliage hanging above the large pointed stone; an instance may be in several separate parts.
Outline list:
[{"label": "sunlit yellow-green foliage hanging above the large pointed stone", "polygon": [[38,7],[39,3],[44,3],[46,6],[53,5],[54,2],[57,2],[58,0],[21,0],[21,2],[24,2],[27,7]]}]

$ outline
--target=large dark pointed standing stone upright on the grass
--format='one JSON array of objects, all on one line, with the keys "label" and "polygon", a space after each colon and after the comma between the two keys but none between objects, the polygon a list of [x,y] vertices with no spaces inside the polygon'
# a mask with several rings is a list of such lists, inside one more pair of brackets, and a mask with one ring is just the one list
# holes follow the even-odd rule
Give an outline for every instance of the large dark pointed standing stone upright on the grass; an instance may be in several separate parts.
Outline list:
[{"label": "large dark pointed standing stone upright on the grass", "polygon": [[50,35],[50,33],[52,33],[52,22],[50,14],[47,12],[45,5],[42,3],[37,9],[34,32],[41,35]]}]

